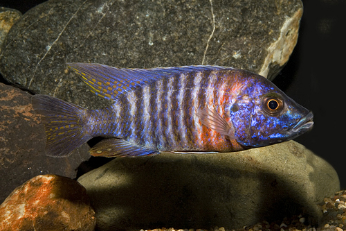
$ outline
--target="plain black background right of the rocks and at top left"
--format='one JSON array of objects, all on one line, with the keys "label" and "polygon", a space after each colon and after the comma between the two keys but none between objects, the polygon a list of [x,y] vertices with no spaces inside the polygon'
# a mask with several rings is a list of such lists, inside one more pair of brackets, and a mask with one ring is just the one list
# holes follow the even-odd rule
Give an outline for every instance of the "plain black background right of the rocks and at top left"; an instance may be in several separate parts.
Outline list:
[{"label": "plain black background right of the rocks and at top left", "polygon": [[[295,139],[327,160],[338,172],[341,189],[346,166],[346,0],[302,0],[304,14],[298,44],[273,81],[312,110],[315,126]],[[24,13],[44,0],[0,0],[0,6]],[[346,169],[345,169],[346,170]]]}]

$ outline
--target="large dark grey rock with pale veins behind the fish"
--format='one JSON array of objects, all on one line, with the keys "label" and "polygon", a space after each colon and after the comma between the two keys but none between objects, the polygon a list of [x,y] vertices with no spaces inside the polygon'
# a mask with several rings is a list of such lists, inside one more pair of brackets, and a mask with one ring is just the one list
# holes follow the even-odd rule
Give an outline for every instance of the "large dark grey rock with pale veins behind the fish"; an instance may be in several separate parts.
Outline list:
[{"label": "large dark grey rock with pale veins behind the fish", "polygon": [[90,92],[66,62],[115,67],[224,65],[273,79],[298,38],[302,2],[46,1],[8,33],[0,71],[10,83],[88,108]]}]

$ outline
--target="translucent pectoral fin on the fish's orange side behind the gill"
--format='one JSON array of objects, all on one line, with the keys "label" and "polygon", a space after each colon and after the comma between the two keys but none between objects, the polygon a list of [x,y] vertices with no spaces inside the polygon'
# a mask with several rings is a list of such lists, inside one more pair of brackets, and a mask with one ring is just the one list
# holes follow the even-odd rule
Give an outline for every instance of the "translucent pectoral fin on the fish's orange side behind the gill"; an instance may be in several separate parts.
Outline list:
[{"label": "translucent pectoral fin on the fish's orange side behind the gill", "polygon": [[228,136],[229,139],[237,139],[233,126],[230,126],[226,119],[222,118],[215,110],[209,108],[199,109],[197,110],[197,117],[204,126],[219,132],[221,135]]}]

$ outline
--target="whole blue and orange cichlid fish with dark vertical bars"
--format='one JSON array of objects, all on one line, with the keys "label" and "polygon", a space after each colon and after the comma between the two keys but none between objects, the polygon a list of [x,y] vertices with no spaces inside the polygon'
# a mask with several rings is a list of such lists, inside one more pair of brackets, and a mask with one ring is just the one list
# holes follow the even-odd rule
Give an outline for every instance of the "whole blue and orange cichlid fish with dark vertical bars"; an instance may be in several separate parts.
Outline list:
[{"label": "whole blue and orange cichlid fish with dark vertical bars", "polygon": [[36,94],[46,155],[65,157],[93,137],[93,156],[225,153],[294,139],[313,127],[313,113],[263,76],[213,65],[126,69],[95,63],[67,66],[108,99],[89,110]]}]

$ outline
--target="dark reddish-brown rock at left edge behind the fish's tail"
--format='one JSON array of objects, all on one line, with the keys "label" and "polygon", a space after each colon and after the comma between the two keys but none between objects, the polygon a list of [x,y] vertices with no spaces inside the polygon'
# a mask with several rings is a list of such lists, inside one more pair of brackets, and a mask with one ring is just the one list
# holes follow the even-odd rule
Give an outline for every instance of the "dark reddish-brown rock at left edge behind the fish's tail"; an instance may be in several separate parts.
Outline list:
[{"label": "dark reddish-brown rock at left edge behind the fish's tail", "polygon": [[27,92],[0,83],[0,114],[0,203],[34,176],[55,173],[75,178],[80,162],[90,157],[87,144],[69,157],[45,155],[44,126]]}]

